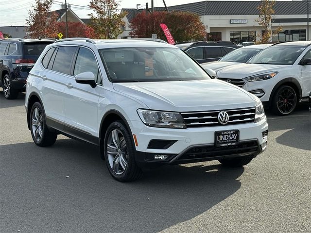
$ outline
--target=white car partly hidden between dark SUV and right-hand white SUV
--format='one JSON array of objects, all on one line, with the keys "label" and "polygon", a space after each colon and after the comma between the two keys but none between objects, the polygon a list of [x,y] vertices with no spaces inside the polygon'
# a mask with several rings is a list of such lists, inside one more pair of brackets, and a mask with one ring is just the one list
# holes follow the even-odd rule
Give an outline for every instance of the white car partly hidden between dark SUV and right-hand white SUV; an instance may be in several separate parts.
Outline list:
[{"label": "white car partly hidden between dark SUV and right-hand white SUV", "polygon": [[228,66],[237,65],[239,63],[246,63],[249,59],[259,53],[261,50],[268,48],[271,45],[251,45],[247,47],[242,47],[240,49],[234,50],[218,61],[207,62],[201,64],[203,68],[209,68],[214,70],[216,73]]}]

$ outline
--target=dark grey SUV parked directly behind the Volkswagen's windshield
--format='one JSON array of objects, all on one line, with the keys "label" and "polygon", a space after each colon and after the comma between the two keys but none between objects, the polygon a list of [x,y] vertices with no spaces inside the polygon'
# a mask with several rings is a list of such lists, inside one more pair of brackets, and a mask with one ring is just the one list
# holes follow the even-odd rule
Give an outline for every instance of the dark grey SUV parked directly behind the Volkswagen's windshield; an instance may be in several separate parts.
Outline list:
[{"label": "dark grey SUV parked directly behind the Volkswagen's windshield", "polygon": [[175,46],[187,52],[200,64],[218,61],[227,53],[243,47],[230,41],[198,41],[175,44]]}]

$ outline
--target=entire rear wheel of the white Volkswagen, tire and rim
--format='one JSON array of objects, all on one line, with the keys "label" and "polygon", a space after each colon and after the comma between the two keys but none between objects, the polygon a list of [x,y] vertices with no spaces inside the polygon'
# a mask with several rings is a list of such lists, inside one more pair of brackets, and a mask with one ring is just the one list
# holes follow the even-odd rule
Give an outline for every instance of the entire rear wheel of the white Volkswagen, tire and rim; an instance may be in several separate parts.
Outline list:
[{"label": "entire rear wheel of the white Volkswagen, tire and rim", "polygon": [[31,108],[29,125],[35,145],[39,147],[48,147],[55,143],[57,133],[49,131],[46,124],[45,113],[40,102],[35,102]]}]

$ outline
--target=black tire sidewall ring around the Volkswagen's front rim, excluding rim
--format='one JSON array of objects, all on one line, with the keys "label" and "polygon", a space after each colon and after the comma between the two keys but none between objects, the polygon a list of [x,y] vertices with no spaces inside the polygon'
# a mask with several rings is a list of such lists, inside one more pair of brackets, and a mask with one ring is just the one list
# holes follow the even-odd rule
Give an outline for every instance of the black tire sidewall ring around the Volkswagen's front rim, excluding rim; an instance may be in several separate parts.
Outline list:
[{"label": "black tire sidewall ring around the Volkswagen's front rim, excluding rim", "polygon": [[[109,134],[111,133],[111,131],[116,130],[116,129],[120,130],[121,133],[123,134],[125,142],[126,142],[126,146],[127,146],[127,151],[128,151],[127,166],[126,166],[125,171],[120,175],[114,173],[112,168],[110,167],[108,155],[107,155],[107,145],[106,145]],[[127,177],[131,173],[132,166],[135,166],[135,164],[134,164],[134,163],[136,163],[136,161],[135,161],[135,149],[134,149],[134,144],[131,140],[131,134],[129,133],[125,124],[121,121],[112,122],[106,130],[105,137],[104,137],[104,159],[106,162],[106,166],[107,166],[110,174],[112,175],[112,177],[118,181],[121,181],[121,182],[127,180]]]}]

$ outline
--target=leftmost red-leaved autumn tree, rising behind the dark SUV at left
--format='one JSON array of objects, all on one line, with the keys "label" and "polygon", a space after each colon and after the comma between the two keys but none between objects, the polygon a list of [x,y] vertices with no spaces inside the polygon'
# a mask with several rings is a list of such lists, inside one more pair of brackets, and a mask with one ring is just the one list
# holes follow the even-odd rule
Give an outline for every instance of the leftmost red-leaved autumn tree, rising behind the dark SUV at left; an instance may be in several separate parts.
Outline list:
[{"label": "leftmost red-leaved autumn tree, rising behind the dark SUV at left", "polygon": [[53,0],[36,0],[35,6],[28,11],[26,24],[31,38],[55,38],[57,35],[57,14],[50,12]]}]

